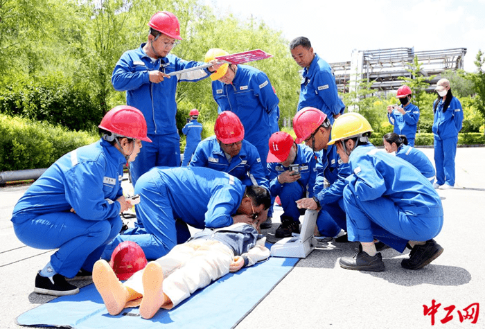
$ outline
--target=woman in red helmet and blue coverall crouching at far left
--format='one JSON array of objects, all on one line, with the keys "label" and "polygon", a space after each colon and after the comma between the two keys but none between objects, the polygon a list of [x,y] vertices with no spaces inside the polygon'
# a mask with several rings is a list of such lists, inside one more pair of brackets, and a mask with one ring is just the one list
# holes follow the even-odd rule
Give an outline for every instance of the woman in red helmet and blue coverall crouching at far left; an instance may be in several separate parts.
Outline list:
[{"label": "woman in red helmet and blue coverall crouching at far left", "polygon": [[29,247],[58,249],[37,273],[34,292],[64,296],[78,288],[66,278],[89,279],[94,263],[131,208],[121,188],[123,165],[150,142],[143,114],[114,107],[101,121],[102,139],[55,161],[15,205],[17,238]]}]

